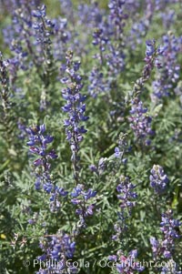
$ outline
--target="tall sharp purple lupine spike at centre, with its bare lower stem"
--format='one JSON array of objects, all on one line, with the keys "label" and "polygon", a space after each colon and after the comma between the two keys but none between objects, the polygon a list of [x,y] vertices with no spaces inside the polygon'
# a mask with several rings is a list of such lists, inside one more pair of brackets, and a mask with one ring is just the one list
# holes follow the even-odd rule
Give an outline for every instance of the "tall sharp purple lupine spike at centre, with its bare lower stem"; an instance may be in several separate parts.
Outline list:
[{"label": "tall sharp purple lupine spike at centre, with its bare lower stem", "polygon": [[79,183],[79,143],[83,140],[83,135],[86,133],[85,126],[80,123],[85,122],[88,117],[85,116],[86,105],[84,101],[86,96],[83,96],[80,91],[83,87],[82,77],[77,74],[80,62],[73,61],[73,52],[69,51],[66,54],[66,73],[67,77],[62,79],[62,83],[66,83],[67,87],[62,90],[66,105],[62,107],[68,115],[64,125],[66,127],[66,140],[69,141],[72,157],[71,161],[74,168],[74,178],[76,185]]}]

